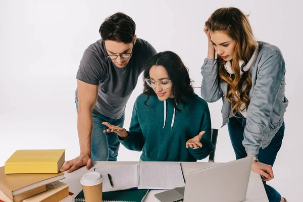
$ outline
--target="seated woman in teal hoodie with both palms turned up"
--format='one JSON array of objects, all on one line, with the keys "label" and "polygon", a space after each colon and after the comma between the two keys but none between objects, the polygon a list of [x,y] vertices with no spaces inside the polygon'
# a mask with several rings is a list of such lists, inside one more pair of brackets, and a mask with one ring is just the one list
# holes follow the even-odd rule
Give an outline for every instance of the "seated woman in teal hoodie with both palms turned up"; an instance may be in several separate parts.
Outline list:
[{"label": "seated woman in teal hoodie with both palms turned up", "polygon": [[144,71],[144,90],[134,104],[129,131],[108,122],[130,150],[142,151],[142,161],[195,162],[209,156],[210,111],[193,91],[188,69],[173,52],[152,57]]}]

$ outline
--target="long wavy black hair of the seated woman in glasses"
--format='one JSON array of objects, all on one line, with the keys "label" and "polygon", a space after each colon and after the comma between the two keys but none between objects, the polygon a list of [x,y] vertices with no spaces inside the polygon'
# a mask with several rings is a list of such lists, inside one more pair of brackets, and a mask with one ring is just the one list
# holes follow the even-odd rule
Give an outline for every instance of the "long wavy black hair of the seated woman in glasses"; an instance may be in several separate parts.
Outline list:
[{"label": "long wavy black hair of the seated woman in glasses", "polygon": [[186,103],[185,100],[182,99],[182,95],[190,96],[193,94],[193,87],[191,85],[192,80],[190,80],[188,69],[183,64],[181,58],[171,51],[158,53],[148,60],[143,76],[143,93],[147,95],[144,105],[146,105],[149,95],[156,94],[153,88],[149,87],[145,81],[146,78],[149,78],[149,70],[154,65],[163,66],[167,71],[169,79],[173,83],[174,108],[177,111],[181,111],[176,105],[177,103],[182,103],[184,106],[183,108],[185,109]]}]

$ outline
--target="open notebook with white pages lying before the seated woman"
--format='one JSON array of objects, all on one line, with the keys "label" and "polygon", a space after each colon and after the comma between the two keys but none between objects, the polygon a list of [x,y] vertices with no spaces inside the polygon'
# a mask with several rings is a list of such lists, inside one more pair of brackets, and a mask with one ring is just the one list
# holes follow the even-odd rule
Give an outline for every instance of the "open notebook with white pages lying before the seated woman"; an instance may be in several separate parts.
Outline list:
[{"label": "open notebook with white pages lying before the seated woman", "polygon": [[[130,166],[98,168],[103,176],[103,191],[131,188],[172,189],[185,186],[180,163],[135,164]],[[111,186],[108,174],[112,176]]]}]

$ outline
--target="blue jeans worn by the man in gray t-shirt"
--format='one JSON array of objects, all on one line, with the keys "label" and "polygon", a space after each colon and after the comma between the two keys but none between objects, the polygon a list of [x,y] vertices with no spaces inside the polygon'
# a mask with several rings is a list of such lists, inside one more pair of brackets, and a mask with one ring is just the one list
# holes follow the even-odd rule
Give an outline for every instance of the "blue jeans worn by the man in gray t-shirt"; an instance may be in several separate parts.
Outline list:
[{"label": "blue jeans worn by the man in gray t-shirt", "polygon": [[[78,103],[76,102],[78,112]],[[108,129],[102,122],[109,122],[112,125],[123,127],[124,114],[120,119],[111,119],[102,114],[92,113],[93,129],[91,137],[91,159],[92,161],[117,161],[120,141],[114,132],[104,133]]]}]

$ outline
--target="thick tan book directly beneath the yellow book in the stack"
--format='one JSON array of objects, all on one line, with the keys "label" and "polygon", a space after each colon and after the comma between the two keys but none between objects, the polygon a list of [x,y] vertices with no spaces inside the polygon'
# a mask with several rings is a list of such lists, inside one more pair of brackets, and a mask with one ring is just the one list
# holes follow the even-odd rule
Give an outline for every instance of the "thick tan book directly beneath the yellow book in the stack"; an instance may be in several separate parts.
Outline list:
[{"label": "thick tan book directly beneath the yellow book in the stack", "polygon": [[[0,167],[0,190],[12,201],[19,201],[45,191],[45,185],[64,179],[64,173],[5,174]],[[0,198],[1,199],[1,198]]]}]

